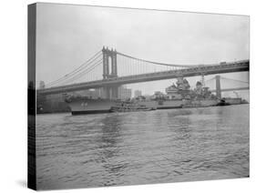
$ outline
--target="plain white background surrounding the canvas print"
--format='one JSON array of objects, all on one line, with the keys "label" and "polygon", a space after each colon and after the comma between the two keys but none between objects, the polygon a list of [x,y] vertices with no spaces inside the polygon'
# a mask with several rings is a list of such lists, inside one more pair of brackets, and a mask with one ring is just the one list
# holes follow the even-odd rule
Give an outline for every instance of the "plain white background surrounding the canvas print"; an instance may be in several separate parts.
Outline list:
[{"label": "plain white background surrounding the canvas print", "polygon": [[[169,183],[56,192],[251,192],[255,187],[255,43],[256,12],[251,0],[55,0],[49,3],[110,5],[219,14],[251,15],[251,178]],[[27,0],[1,1],[1,192],[28,192],[26,186],[26,6]],[[255,100],[253,100],[255,98]],[[255,117],[255,116],[254,116]]]}]

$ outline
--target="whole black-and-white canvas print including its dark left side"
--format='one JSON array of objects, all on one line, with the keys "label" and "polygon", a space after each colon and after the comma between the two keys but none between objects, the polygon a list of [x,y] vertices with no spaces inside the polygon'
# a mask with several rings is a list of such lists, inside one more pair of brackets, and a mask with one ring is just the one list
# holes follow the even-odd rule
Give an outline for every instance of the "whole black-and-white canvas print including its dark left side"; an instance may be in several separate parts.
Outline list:
[{"label": "whole black-and-white canvas print including its dark left side", "polygon": [[28,187],[250,177],[250,16],[28,5]]}]

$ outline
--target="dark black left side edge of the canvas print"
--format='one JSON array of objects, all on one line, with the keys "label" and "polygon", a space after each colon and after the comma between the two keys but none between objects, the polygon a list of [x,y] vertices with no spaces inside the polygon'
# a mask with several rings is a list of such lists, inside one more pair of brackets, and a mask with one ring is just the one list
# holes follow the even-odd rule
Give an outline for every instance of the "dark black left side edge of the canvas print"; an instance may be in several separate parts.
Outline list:
[{"label": "dark black left side edge of the canvas print", "polygon": [[36,4],[27,5],[27,188],[36,190]]}]

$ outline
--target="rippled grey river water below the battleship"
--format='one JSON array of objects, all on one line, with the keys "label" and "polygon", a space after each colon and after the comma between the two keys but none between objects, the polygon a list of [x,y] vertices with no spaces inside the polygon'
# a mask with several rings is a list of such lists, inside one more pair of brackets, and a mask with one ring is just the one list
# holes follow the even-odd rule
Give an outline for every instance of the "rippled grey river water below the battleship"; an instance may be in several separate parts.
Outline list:
[{"label": "rippled grey river water below the battleship", "polygon": [[249,105],[36,117],[39,189],[249,176]]}]

